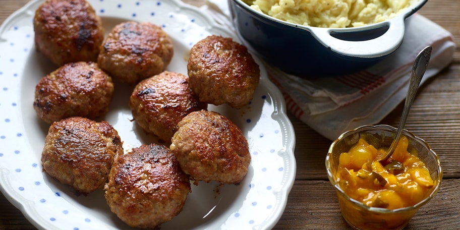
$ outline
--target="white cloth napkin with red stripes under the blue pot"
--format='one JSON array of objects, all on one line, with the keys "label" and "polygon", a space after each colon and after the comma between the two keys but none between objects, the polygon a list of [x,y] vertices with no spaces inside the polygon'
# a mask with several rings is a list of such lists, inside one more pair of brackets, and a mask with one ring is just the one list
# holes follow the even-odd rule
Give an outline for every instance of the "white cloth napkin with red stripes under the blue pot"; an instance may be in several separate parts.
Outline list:
[{"label": "white cloth napkin with red stripes under the blue pot", "polygon": [[[235,31],[226,0],[208,0],[202,7],[217,23]],[[401,46],[367,70],[334,78],[304,79],[265,64],[270,79],[283,92],[286,107],[322,136],[334,140],[362,125],[379,123],[406,98],[412,65],[417,54],[433,47],[423,84],[453,58],[450,32],[420,14],[406,20]]]}]

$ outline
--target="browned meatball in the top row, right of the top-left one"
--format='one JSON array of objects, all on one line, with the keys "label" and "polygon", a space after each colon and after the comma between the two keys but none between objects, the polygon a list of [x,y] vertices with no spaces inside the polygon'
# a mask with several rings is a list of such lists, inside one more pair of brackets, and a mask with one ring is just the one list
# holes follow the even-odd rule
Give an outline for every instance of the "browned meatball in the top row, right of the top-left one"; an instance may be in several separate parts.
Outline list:
[{"label": "browned meatball in the top row, right of the top-left one", "polygon": [[150,22],[124,22],[115,26],[103,42],[99,67],[128,84],[163,72],[174,54],[172,40]]}]

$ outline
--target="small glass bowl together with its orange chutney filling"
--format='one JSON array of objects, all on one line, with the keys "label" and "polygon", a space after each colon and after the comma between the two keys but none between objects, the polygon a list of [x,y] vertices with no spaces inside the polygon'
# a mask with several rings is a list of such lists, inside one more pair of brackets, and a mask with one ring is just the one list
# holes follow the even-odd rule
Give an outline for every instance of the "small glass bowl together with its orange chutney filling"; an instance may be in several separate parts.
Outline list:
[{"label": "small glass bowl together with its orange chutney filling", "polygon": [[329,147],[327,177],[343,219],[354,229],[402,229],[439,191],[439,157],[407,130],[389,160],[383,165],[378,161],[396,131],[388,125],[361,126],[344,132]]}]

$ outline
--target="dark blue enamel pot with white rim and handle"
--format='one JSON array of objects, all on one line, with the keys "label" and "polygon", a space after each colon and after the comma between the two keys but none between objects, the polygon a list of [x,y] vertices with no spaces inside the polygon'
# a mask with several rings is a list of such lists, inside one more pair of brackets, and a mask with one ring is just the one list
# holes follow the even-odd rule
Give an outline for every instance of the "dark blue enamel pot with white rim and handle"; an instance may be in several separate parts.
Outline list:
[{"label": "dark blue enamel pot with white rim and handle", "polygon": [[396,17],[362,27],[319,28],[270,17],[242,0],[228,0],[241,41],[268,64],[301,77],[350,74],[393,53],[402,43],[405,21],[428,0]]}]

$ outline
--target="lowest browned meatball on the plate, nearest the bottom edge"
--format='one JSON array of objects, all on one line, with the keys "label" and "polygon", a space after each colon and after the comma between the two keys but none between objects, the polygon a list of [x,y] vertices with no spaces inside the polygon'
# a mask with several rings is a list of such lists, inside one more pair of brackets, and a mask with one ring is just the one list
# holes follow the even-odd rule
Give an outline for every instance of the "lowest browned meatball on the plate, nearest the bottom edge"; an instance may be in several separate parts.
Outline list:
[{"label": "lowest browned meatball on the plate, nearest the bottom edge", "polygon": [[174,154],[157,144],[119,155],[104,189],[110,210],[131,227],[140,228],[171,220],[192,191]]}]

